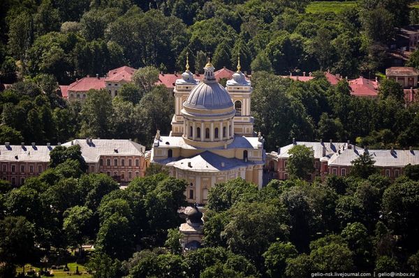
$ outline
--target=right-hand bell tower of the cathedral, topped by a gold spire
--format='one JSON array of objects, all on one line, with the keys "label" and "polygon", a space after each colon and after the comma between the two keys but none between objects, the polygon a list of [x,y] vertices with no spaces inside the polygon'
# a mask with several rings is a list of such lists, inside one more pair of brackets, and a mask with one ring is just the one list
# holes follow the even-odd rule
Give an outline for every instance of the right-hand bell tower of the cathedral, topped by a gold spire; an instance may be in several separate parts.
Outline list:
[{"label": "right-hand bell tower of the cathedral, topped by a gold spire", "polygon": [[238,136],[254,136],[253,122],[250,115],[251,101],[251,82],[246,79],[240,66],[240,56],[237,59],[237,71],[233,74],[233,79],[228,80],[226,89],[234,103],[234,133]]}]

